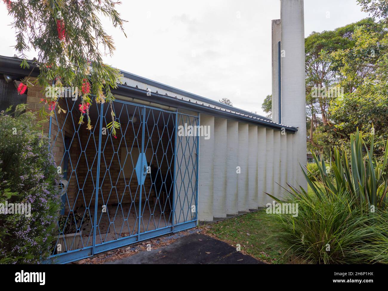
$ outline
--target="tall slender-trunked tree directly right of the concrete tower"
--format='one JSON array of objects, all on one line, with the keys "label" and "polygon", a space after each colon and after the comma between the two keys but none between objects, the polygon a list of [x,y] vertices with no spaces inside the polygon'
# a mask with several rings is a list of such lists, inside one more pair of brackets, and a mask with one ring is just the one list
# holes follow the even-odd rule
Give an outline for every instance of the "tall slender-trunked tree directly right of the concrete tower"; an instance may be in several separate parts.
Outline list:
[{"label": "tall slender-trunked tree directly right of the concrete tower", "polygon": [[[307,120],[308,148],[327,147],[324,132],[333,127],[329,113],[330,103],[333,97],[338,97],[352,88],[341,88],[340,81],[343,76],[337,68],[333,67],[331,54],[338,50],[351,49],[355,44],[353,38],[355,29],[374,24],[373,18],[367,18],[333,31],[312,32],[305,38],[306,113],[310,116]],[[333,90],[336,93],[334,95]]]}]

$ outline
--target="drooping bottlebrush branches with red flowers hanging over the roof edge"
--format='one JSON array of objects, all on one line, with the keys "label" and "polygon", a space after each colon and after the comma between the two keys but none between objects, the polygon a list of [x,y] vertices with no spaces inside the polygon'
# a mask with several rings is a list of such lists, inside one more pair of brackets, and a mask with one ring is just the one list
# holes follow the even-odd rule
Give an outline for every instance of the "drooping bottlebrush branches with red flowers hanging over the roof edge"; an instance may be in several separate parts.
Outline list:
[{"label": "drooping bottlebrush branches with red flowers hanging over the roof edge", "polygon": [[[9,3],[8,3],[9,2]],[[26,85],[38,85],[47,88],[82,88],[82,104],[92,105],[91,95],[99,102],[112,102],[111,88],[120,83],[118,69],[104,64],[102,57],[112,55],[115,47],[111,36],[102,27],[100,16],[110,19],[115,28],[123,31],[123,23],[116,5],[112,0],[14,0],[6,1],[9,14],[13,17],[12,27],[16,31],[15,49],[21,59],[21,66],[29,68],[26,54],[33,49],[38,52],[34,65],[40,69],[38,78],[26,80]],[[64,84],[64,85],[62,85]],[[57,102],[60,96],[47,97],[46,104],[56,105],[58,112],[65,112]],[[50,103],[51,101],[51,103]],[[43,107],[42,116],[53,115]],[[88,110],[81,111],[80,123],[84,114],[87,127],[90,125]],[[114,119],[114,114],[112,114]],[[115,135],[115,120],[112,120],[111,132]],[[107,126],[109,128],[109,126]]]}]

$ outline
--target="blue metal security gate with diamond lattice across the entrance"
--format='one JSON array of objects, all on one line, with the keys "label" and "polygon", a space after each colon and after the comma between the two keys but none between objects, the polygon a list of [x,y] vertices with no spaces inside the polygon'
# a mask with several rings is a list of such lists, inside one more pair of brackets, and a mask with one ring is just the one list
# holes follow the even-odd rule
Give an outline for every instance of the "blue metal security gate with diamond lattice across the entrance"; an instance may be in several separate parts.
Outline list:
[{"label": "blue metal security gate with diamond lattice across the entrance", "polygon": [[59,102],[66,113],[50,118],[50,137],[64,179],[49,262],[72,262],[196,226],[199,137],[178,128],[196,129],[199,117],[115,100],[121,126],[113,136],[105,127],[110,104],[90,107],[87,130],[78,124],[80,100]]}]

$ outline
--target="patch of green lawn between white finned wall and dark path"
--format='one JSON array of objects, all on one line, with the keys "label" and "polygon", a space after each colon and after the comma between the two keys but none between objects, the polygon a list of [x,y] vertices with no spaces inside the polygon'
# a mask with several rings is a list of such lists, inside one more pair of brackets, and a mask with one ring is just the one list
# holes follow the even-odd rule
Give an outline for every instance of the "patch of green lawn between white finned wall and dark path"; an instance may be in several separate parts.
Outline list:
[{"label": "patch of green lawn between white finned wall and dark path", "polygon": [[[310,187],[308,193],[314,195]],[[266,227],[265,208],[239,217],[203,225],[206,234],[232,246],[240,244],[241,251],[267,263],[286,263],[279,249],[268,246],[270,229]]]}]

